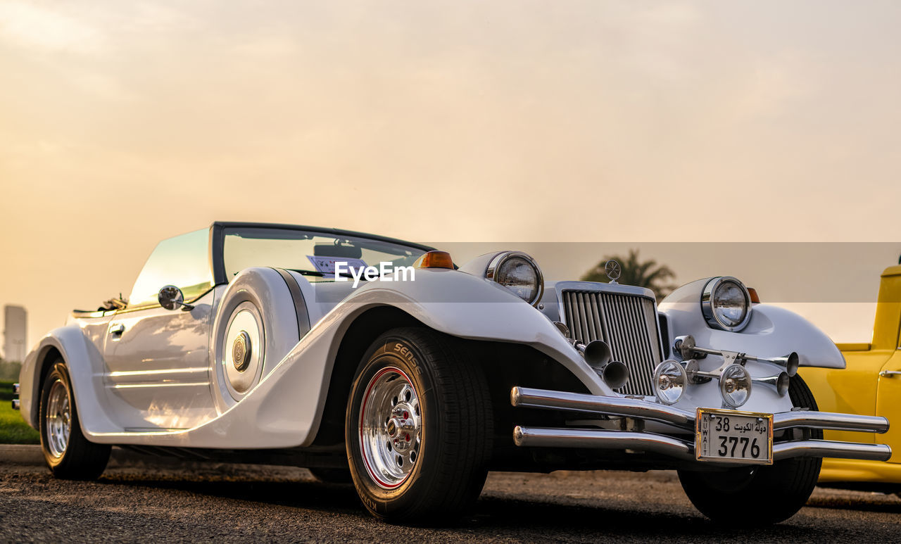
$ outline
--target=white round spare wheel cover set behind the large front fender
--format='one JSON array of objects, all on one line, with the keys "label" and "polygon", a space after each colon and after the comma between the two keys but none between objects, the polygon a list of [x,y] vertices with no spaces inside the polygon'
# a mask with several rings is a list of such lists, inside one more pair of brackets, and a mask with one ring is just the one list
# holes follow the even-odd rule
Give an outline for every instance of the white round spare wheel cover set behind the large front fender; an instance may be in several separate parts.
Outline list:
[{"label": "white round spare wheel cover set behind the large front fender", "polygon": [[241,270],[223,294],[213,324],[210,386],[223,413],[250,394],[300,340],[296,304],[274,268]]}]

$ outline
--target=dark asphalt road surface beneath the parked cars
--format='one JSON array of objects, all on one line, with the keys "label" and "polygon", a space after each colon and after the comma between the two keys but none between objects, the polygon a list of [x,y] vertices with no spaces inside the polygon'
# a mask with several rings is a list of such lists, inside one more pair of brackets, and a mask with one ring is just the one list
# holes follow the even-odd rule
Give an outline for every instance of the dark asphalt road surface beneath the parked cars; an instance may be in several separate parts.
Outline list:
[{"label": "dark asphalt road surface beneath the parked cars", "polygon": [[675,473],[488,477],[476,512],[441,528],[370,518],[349,485],[303,469],[156,466],[108,468],[97,482],[54,480],[43,467],[0,466],[0,541],[790,541],[901,539],[895,495],[817,489],[789,521],[745,529],[706,521]]}]

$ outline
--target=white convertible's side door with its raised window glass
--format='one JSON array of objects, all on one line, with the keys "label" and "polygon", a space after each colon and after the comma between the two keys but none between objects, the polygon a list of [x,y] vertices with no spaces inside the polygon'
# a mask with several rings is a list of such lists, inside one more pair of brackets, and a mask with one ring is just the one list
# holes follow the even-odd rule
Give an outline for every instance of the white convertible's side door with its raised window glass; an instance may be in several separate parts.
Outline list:
[{"label": "white convertible's side door with its raised window glass", "polygon": [[[134,410],[129,430],[187,429],[214,417],[209,338],[214,291],[208,231],[163,240],[141,270],[129,305],[114,315],[104,345],[105,385]],[[189,307],[167,310],[156,294],[177,286]]]}]

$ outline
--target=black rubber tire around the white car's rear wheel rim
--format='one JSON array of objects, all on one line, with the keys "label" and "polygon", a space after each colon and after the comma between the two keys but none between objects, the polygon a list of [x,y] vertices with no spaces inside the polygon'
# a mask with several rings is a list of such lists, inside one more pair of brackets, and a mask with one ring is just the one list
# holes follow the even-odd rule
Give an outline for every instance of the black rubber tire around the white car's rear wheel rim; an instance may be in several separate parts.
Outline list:
[{"label": "black rubber tire around the white car's rear wheel rim", "polygon": [[[54,385],[64,388],[65,394],[68,395],[69,432],[68,443],[64,448],[50,445],[47,413],[50,391],[54,389]],[[85,438],[81,431],[81,425],[78,423],[78,409],[75,395],[72,393],[72,382],[68,377],[68,368],[61,358],[50,367],[50,372],[44,378],[41,386],[39,417],[41,421],[41,451],[53,476],[64,480],[94,480],[103,474],[112,447],[108,444],[95,444]],[[59,448],[61,451],[55,451],[55,448]]]}]

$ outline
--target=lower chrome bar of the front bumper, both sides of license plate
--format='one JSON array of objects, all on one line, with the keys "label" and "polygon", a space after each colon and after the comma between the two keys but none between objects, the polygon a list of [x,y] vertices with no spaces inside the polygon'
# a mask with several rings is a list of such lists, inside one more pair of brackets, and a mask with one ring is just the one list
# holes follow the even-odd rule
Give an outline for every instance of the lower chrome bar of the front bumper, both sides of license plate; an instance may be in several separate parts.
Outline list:
[{"label": "lower chrome bar of the front bumper, both sides of license plate", "polygon": [[[537,448],[631,449],[695,461],[695,445],[662,434],[596,429],[530,429],[516,426],[517,446]],[[842,458],[887,461],[892,449],[885,444],[857,444],[832,440],[795,440],[773,444],[773,460],[787,458]]]}]

